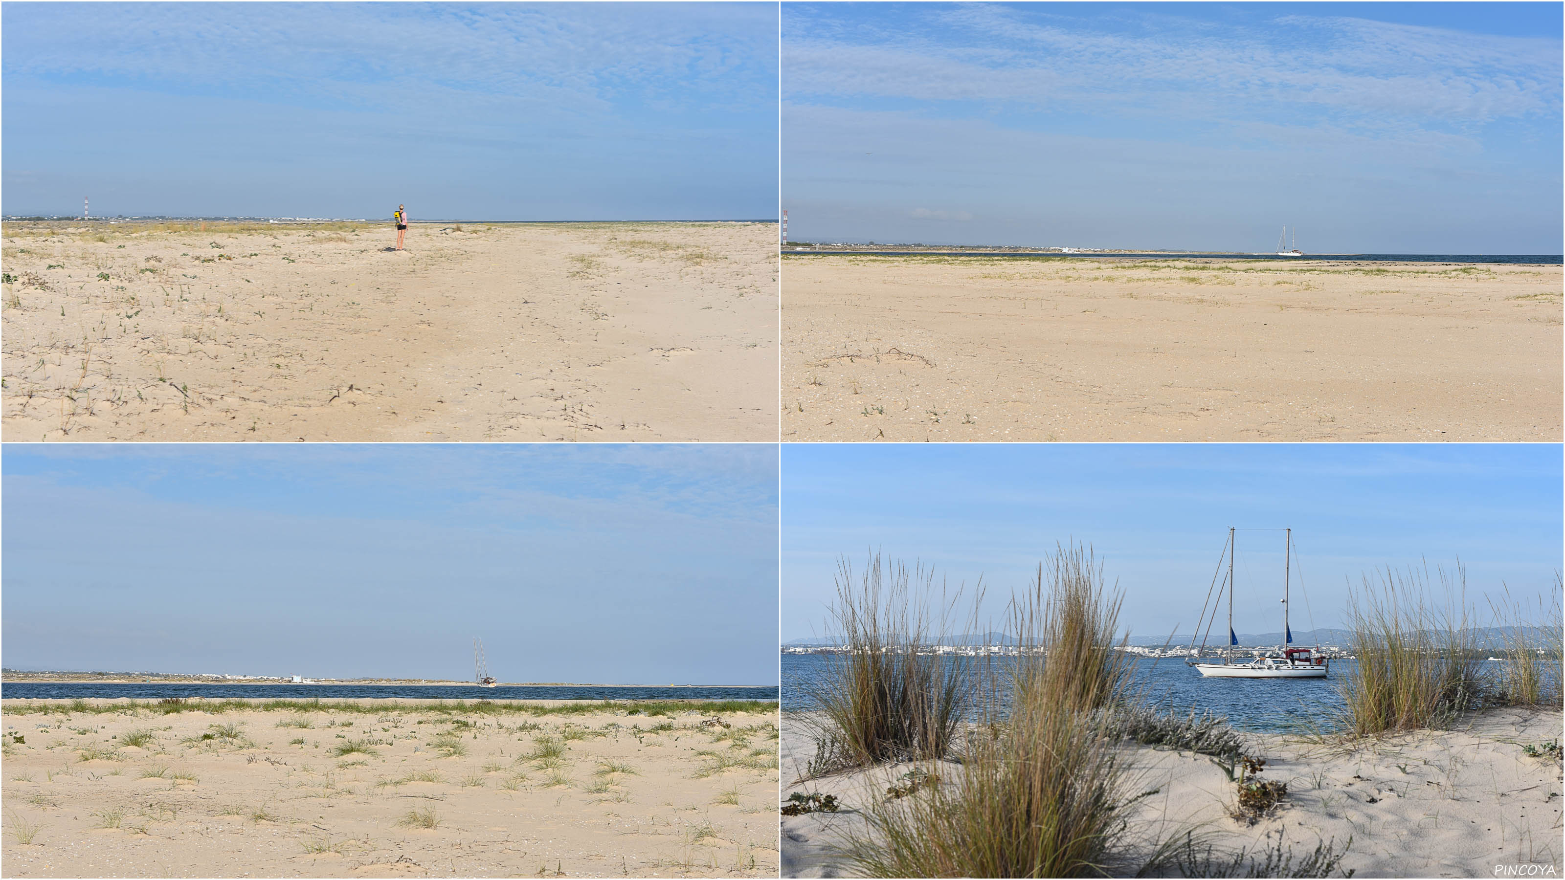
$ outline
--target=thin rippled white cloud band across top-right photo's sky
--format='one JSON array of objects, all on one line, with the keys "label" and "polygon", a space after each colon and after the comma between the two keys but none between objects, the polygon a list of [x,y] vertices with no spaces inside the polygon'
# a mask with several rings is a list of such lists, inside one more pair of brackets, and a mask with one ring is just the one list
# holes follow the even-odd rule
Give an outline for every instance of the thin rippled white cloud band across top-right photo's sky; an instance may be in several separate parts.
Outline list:
[{"label": "thin rippled white cloud band across top-right photo's sky", "polygon": [[795,23],[786,28],[784,86],[801,97],[1167,114],[1227,106],[1297,116],[1308,108],[1371,128],[1387,116],[1482,124],[1560,111],[1560,44],[1548,38],[1310,16],[1279,17],[1265,33],[1219,33],[1160,16],[1161,27],[1127,34],[1041,23],[1031,11],[989,5],[936,6],[897,33]]}]

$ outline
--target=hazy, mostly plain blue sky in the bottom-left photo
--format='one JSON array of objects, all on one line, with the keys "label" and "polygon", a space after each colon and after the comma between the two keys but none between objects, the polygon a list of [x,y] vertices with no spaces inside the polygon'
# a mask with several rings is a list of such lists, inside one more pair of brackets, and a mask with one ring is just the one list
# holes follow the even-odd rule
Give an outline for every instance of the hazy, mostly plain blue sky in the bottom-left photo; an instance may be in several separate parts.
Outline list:
[{"label": "hazy, mostly plain blue sky in the bottom-left photo", "polygon": [[775,684],[776,456],[13,443],[3,661]]}]

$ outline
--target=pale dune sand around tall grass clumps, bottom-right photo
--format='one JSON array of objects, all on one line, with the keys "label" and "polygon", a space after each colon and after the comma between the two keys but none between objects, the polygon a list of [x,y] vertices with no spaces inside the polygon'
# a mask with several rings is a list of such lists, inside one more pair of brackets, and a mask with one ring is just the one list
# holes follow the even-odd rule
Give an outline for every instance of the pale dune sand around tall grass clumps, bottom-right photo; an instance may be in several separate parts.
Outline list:
[{"label": "pale dune sand around tall grass clumps, bottom-right photo", "polygon": [[[1135,825],[1163,836],[1202,827],[1221,849],[1265,846],[1277,831],[1296,858],[1319,841],[1352,838],[1341,871],[1355,877],[1495,877],[1496,866],[1535,866],[1523,877],[1559,877],[1562,775],[1559,761],[1529,758],[1521,745],[1559,738],[1559,711],[1491,711],[1459,730],[1398,736],[1355,748],[1326,748],[1277,734],[1249,734],[1266,758],[1258,778],[1288,784],[1283,805],[1255,825],[1229,816],[1235,786],[1211,759],[1188,752],[1127,748],[1135,791],[1157,789]],[[836,814],[782,819],[784,877],[848,875],[833,846],[862,827],[854,805],[886,797],[911,766],[795,783],[814,744],[798,719],[782,725],[784,797],[836,794]],[[958,778],[948,770],[945,778]],[[1518,874],[1510,874],[1518,875]]]}]

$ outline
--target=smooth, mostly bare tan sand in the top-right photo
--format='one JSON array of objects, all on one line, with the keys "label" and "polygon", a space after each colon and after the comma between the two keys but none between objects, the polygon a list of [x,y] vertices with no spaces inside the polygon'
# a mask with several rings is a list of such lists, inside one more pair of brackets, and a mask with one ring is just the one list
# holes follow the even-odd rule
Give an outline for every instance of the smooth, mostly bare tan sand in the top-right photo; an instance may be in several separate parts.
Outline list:
[{"label": "smooth, mostly bare tan sand in the top-right photo", "polygon": [[1562,437],[1560,266],[786,257],[784,440]]}]

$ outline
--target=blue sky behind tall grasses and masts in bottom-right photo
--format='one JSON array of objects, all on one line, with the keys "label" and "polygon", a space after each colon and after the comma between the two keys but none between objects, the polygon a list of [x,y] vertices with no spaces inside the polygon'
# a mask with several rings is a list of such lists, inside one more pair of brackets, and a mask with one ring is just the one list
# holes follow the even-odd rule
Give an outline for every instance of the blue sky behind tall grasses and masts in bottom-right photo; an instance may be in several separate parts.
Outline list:
[{"label": "blue sky behind tall grasses and masts in bottom-right photo", "polygon": [[[840,556],[922,561],[988,587],[998,615],[1055,543],[1091,543],[1138,636],[1188,633],[1229,526],[1293,528],[1307,603],[1338,626],[1347,584],[1387,565],[1466,567],[1549,595],[1562,565],[1559,445],[784,445],[782,639],[825,633]],[[1239,532],[1235,629],[1282,629],[1280,532]],[[1297,578],[1296,570],[1296,578]],[[1294,581],[1297,587],[1297,581]],[[1250,601],[1246,601],[1250,600]],[[1307,604],[1307,608],[1305,608]],[[1301,615],[1301,611],[1307,614]]]}]

